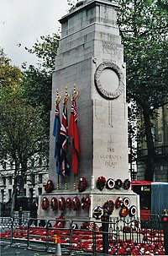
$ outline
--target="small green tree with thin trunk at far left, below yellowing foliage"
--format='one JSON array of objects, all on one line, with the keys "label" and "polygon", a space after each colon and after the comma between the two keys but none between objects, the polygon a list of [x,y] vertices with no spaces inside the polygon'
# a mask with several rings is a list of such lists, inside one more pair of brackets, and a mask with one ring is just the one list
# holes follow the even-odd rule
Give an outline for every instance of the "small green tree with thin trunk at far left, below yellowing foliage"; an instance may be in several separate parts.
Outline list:
[{"label": "small green tree with thin trunk at far left, below yellowing foliage", "polygon": [[45,143],[48,140],[39,109],[25,106],[16,99],[16,95],[6,104],[0,104],[0,107],[3,160],[12,161],[15,168],[11,211],[13,214],[16,193],[18,191],[18,194],[22,195],[20,193],[24,191],[24,177],[28,171],[28,163],[34,155],[44,156]]}]

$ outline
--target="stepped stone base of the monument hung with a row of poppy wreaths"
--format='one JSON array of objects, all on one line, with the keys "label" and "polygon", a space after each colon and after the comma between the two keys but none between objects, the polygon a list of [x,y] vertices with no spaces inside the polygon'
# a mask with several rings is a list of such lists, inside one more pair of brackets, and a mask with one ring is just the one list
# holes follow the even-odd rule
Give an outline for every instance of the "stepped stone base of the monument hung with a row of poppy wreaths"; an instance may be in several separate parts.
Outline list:
[{"label": "stepped stone base of the monument hung with a row of poppy wreaths", "polygon": [[[54,190],[52,193],[43,194],[39,202],[43,202],[44,198],[48,199],[49,205],[46,210],[39,205],[39,218],[46,220],[55,220],[62,214],[66,221],[97,221],[101,219],[104,211],[108,211],[111,221],[140,217],[139,195],[131,189],[113,189],[111,192],[103,188],[103,193],[97,188],[83,193],[70,193],[66,190],[61,190],[60,193],[59,190]],[[55,210],[51,209],[52,199],[56,199],[58,203]],[[97,209],[100,210],[99,215],[96,213]]]}]

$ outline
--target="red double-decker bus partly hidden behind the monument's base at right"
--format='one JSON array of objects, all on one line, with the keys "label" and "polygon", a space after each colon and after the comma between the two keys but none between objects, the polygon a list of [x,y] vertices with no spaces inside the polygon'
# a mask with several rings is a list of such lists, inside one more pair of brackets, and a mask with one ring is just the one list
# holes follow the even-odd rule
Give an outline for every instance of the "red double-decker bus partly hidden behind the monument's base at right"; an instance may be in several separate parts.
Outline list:
[{"label": "red double-decker bus partly hidden behind the monument's base at right", "polygon": [[139,194],[140,217],[149,219],[150,215],[160,215],[168,210],[168,183],[132,181],[132,190]]}]

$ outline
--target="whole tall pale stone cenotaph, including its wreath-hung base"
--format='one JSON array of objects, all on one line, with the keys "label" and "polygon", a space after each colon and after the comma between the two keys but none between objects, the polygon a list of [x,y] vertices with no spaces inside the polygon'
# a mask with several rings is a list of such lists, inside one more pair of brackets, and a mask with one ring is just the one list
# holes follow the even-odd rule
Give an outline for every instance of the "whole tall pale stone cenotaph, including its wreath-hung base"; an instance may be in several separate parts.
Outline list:
[{"label": "whole tall pale stone cenotaph, including its wreath-hung base", "polygon": [[[139,217],[139,197],[129,182],[126,65],[117,12],[117,3],[87,0],[76,3],[60,19],[50,115],[49,178],[53,189],[41,196],[41,202],[48,203],[45,210],[39,208],[39,215],[45,218],[62,215],[66,220],[89,221],[100,218],[102,209],[112,219]],[[76,175],[71,170],[73,140],[68,138],[66,178],[56,172],[53,136],[55,99],[59,99],[61,120],[65,94],[68,120],[71,96],[77,95],[79,131],[78,170]],[[52,200],[54,210],[50,208]]]}]

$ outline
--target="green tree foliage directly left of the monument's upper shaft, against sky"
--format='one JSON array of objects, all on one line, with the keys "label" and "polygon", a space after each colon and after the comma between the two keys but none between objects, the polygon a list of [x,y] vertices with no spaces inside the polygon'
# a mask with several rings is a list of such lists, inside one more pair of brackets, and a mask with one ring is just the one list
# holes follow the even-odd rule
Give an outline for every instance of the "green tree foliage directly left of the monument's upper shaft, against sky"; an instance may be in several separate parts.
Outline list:
[{"label": "green tree foliage directly left of the monument's upper shaft, against sky", "polygon": [[[24,97],[31,106],[43,106],[44,123],[46,124],[46,133],[49,136],[50,128],[50,109],[52,94],[52,72],[55,69],[55,56],[59,46],[60,35],[42,35],[34,43],[32,48],[25,49],[35,54],[40,61],[39,67],[30,65],[24,67]],[[44,97],[45,95],[45,97]]]}]

